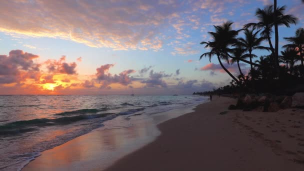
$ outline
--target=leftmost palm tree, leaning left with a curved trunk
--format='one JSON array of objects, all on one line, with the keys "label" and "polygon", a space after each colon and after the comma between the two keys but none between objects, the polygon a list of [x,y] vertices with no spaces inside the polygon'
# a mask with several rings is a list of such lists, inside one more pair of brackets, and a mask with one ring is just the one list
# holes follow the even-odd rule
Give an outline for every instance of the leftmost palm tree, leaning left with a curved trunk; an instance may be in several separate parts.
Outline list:
[{"label": "leftmost palm tree, leaning left with a curved trunk", "polygon": [[221,62],[221,59],[224,59],[228,62],[228,56],[226,55],[228,51],[231,49],[229,48],[232,44],[235,44],[237,41],[237,34],[240,30],[232,30],[231,24],[233,22],[227,21],[224,22],[222,25],[213,25],[215,28],[215,32],[209,31],[208,33],[212,37],[212,41],[202,41],[200,44],[206,44],[205,48],[210,48],[209,52],[205,52],[200,55],[199,59],[203,56],[209,57],[209,61],[213,55],[217,56],[218,62],[220,66],[232,77],[235,82],[239,82],[229,71],[224,67]]}]

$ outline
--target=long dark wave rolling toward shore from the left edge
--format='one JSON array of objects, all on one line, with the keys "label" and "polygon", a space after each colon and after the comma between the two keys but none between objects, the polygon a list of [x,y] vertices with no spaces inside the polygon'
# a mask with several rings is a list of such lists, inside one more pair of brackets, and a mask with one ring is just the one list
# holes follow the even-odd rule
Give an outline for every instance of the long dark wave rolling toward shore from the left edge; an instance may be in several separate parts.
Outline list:
[{"label": "long dark wave rolling toward shore from the left edge", "polygon": [[31,126],[50,126],[50,125],[56,125],[56,124],[69,124],[69,123],[72,123],[75,121],[105,117],[108,115],[114,115],[114,114],[113,113],[101,113],[101,114],[76,115],[76,116],[70,116],[70,117],[59,117],[59,118],[53,118],[53,119],[37,118],[37,119],[31,119],[31,120],[14,121],[14,122],[0,125],[0,135],[18,134],[18,133],[32,131],[35,128],[32,128]]}]

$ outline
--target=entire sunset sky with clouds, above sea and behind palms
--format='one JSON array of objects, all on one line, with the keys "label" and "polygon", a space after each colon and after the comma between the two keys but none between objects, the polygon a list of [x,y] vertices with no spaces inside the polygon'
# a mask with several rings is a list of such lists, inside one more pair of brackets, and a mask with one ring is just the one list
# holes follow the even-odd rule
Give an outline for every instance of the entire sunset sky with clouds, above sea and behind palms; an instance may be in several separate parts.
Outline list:
[{"label": "entire sunset sky with clouds, above sea and behind palms", "polygon": [[[1,0],[0,94],[190,94],[231,81],[207,52],[212,25],[256,22],[271,0]],[[304,27],[301,0],[277,0]],[[239,37],[243,34],[240,33]],[[274,40],[272,39],[274,44]],[[268,46],[267,42],[263,45]],[[253,51],[257,56],[267,51]],[[255,60],[255,59],[253,59]],[[244,73],[249,69],[240,63]],[[236,64],[225,66],[238,75]]]}]

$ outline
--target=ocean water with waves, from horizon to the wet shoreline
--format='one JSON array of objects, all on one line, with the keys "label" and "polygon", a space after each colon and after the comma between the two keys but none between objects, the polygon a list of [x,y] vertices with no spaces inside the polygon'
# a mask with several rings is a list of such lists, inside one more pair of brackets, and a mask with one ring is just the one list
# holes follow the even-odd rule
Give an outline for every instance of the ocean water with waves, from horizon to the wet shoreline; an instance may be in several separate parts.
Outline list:
[{"label": "ocean water with waves, from horizon to the wet shoreline", "polygon": [[196,95],[0,95],[0,169],[20,170],[41,151],[93,129],[132,126],[132,117],[206,100]]}]

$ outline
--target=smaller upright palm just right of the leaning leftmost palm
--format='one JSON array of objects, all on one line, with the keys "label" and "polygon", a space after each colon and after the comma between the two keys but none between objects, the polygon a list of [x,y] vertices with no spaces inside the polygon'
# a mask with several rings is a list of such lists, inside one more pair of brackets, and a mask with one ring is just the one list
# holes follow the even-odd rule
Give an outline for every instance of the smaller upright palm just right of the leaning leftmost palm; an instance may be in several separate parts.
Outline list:
[{"label": "smaller upright palm just right of the leaning leftmost palm", "polygon": [[[257,33],[259,31],[256,31],[253,33],[254,29],[244,29],[245,38],[238,38],[238,45],[242,48],[244,48],[246,51],[249,52],[249,59],[250,62],[252,62],[252,50],[254,49],[267,49],[268,47],[261,46],[261,42],[265,39],[265,37],[257,37]],[[250,63],[250,68],[253,69],[252,63]]]}]

